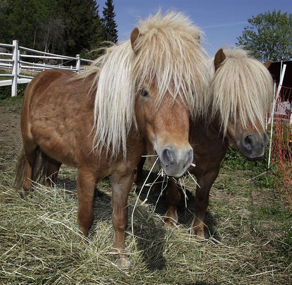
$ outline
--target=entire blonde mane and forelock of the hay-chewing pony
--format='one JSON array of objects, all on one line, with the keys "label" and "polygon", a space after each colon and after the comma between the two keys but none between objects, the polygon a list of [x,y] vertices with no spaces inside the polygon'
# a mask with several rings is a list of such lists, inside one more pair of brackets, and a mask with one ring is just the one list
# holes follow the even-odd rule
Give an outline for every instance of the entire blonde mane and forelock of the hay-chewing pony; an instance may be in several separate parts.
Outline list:
[{"label": "entire blonde mane and forelock of the hay-chewing pony", "polygon": [[[201,30],[183,13],[160,11],[138,24],[140,35],[106,48],[81,76],[95,73],[93,148],[126,157],[129,130],[136,126],[135,96],[147,82],[157,86],[157,108],[166,93],[182,98],[192,116],[203,112],[210,84]],[[134,51],[133,51],[134,49]]]}]

